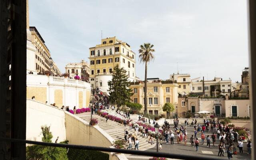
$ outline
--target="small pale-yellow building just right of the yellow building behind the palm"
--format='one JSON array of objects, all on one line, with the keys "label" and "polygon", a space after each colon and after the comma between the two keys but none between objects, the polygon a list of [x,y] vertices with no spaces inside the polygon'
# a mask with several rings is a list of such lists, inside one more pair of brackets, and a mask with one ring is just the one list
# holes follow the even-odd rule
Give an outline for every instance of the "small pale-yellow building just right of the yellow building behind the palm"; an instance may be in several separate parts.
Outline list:
[{"label": "small pale-yellow building just right of the yellow building behind the palm", "polygon": [[177,74],[171,74],[170,80],[179,85],[178,94],[184,95],[191,92],[190,74],[179,74],[179,72]]}]

